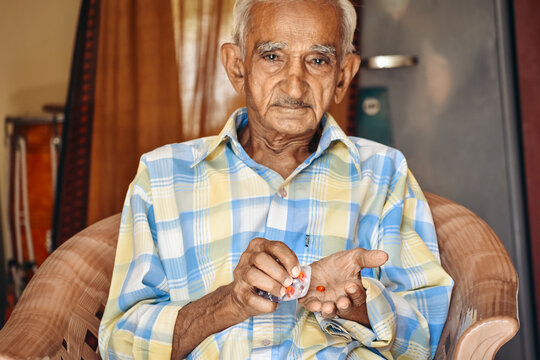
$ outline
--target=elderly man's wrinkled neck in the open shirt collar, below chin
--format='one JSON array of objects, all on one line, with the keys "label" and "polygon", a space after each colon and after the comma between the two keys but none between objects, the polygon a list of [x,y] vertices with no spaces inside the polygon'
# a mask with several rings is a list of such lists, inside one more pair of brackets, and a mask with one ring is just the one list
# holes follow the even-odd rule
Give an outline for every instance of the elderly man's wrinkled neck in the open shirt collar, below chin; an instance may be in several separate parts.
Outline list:
[{"label": "elderly man's wrinkled neck in the open shirt collar, below chin", "polygon": [[[257,163],[274,170],[287,179],[306,160],[319,144],[321,129],[299,138],[269,137],[258,132],[249,123],[240,130],[238,139],[246,153]],[[271,138],[271,139],[270,139]]]}]

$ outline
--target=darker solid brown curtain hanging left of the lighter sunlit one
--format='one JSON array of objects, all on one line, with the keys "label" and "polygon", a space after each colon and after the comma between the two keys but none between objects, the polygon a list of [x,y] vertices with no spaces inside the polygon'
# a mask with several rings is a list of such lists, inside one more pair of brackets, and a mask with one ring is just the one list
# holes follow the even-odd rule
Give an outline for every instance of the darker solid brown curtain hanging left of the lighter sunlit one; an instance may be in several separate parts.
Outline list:
[{"label": "darker solid brown curtain hanging left of the lighter sunlit one", "polygon": [[183,140],[170,0],[104,1],[88,224],[121,211],[144,152]]}]

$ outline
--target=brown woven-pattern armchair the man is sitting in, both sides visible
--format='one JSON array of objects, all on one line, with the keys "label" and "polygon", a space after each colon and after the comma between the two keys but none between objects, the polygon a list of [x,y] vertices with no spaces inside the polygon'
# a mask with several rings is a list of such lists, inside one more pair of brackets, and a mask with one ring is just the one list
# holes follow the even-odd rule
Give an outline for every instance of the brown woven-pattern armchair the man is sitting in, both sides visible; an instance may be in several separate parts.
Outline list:
[{"label": "brown woven-pattern armchair the man is sitting in, both sides visible", "polygon": [[[437,359],[493,359],[518,331],[518,279],[491,228],[433,194],[444,268],[455,280]],[[97,331],[112,272],[120,216],[56,250],[34,275],[0,331],[0,359],[98,359]]]}]

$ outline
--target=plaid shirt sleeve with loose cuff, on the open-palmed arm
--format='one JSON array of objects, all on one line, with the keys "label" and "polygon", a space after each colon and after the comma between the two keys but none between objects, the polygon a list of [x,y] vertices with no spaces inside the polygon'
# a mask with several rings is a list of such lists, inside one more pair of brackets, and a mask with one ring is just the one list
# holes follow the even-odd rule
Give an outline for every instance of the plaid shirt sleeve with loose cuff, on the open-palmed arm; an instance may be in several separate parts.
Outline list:
[{"label": "plaid shirt sleeve with loose cuff, on the open-palmed arm", "polygon": [[322,328],[391,359],[430,359],[448,314],[452,278],[440,264],[427,201],[405,160],[391,180],[374,249],[389,254],[380,269],[364,269],[371,328],[323,319]]}]

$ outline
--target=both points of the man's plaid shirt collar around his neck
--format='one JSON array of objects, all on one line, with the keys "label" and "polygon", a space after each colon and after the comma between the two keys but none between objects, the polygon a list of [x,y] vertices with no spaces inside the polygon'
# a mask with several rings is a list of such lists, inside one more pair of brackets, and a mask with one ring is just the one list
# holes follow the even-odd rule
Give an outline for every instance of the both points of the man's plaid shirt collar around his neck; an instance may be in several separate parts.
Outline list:
[{"label": "both points of the man's plaid shirt collar around his neck", "polygon": [[[205,142],[201,148],[199,148],[198,153],[195,155],[191,167],[196,166],[202,160],[204,160],[208,155],[213,153],[219,145],[223,142],[231,142],[233,150],[238,152],[238,149],[241,147],[238,141],[238,130],[242,129],[247,125],[247,109],[241,108],[236,110],[227,120],[227,123],[219,133],[217,137],[212,138],[212,140]],[[323,130],[321,134],[321,139],[319,140],[319,145],[315,152],[314,158],[320,156],[324,151],[326,151],[334,142],[342,142],[351,155],[352,161],[358,171],[360,171],[360,154],[358,153],[358,148],[353,144],[349,137],[341,130],[338,123],[332,115],[326,113],[324,114],[321,120]]]}]

